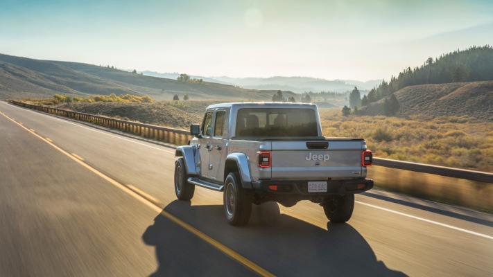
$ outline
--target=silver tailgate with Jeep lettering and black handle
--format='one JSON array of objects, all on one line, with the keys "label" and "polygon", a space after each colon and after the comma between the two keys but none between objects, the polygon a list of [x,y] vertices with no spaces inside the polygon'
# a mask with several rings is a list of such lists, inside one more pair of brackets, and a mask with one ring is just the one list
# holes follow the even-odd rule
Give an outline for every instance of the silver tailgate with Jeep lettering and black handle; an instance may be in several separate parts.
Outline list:
[{"label": "silver tailgate with Jeep lettering and black handle", "polygon": [[365,148],[363,139],[272,141],[271,176],[312,180],[366,177],[366,169],[361,165]]}]

